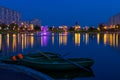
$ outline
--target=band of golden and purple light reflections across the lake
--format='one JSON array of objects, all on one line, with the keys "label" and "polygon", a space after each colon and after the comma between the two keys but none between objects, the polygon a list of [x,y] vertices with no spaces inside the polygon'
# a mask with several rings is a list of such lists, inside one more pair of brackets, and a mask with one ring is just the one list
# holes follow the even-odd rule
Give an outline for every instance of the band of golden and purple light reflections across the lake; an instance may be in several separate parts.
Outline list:
[{"label": "band of golden and purple light reflections across the lake", "polygon": [[39,37],[36,37],[34,34],[30,34],[29,36],[27,34],[0,34],[0,51],[2,50],[4,54],[24,52],[25,50],[43,46],[80,46],[84,44],[87,46],[90,45],[89,43],[118,48],[120,47],[120,34],[59,33],[56,35],[56,33],[52,33],[49,36]]}]

